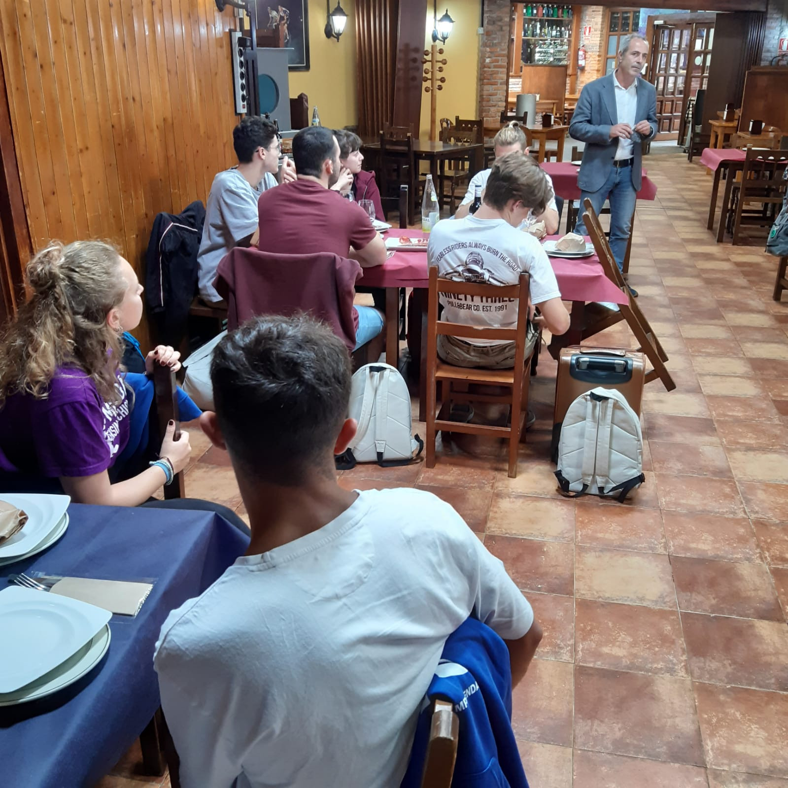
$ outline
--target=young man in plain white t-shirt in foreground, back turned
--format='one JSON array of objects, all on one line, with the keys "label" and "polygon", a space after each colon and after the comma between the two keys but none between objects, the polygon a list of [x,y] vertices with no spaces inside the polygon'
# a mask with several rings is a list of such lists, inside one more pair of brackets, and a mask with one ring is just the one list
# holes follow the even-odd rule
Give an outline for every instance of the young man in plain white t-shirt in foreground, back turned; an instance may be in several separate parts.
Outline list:
[{"label": "young man in plain white t-shirt in foreground, back turned", "polygon": [[247,322],[211,377],[201,422],[229,453],[251,542],[162,627],[180,784],[399,786],[448,635],[469,615],[491,626],[516,684],[541,639],[530,604],[436,496],[338,485],[356,423],[348,351],[325,325]]}]

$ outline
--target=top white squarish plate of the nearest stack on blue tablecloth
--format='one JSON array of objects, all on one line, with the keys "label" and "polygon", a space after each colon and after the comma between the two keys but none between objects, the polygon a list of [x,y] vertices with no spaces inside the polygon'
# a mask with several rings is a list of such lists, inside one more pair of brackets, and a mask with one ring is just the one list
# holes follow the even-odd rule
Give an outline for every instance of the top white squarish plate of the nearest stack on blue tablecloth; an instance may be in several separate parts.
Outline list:
[{"label": "top white squarish plate of the nearest stack on blue tablecloth", "polygon": [[0,693],[20,689],[69,659],[112,613],[48,591],[0,591]]}]

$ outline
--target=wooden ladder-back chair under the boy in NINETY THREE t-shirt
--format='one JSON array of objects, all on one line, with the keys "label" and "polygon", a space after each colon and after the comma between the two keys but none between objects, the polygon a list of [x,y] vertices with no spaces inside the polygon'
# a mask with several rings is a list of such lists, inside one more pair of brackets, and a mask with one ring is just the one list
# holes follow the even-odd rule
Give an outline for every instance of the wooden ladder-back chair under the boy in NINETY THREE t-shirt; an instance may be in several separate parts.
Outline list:
[{"label": "wooden ladder-back chair under the boy in NINETY THREE t-shirt", "polygon": [[[489,298],[490,303],[502,298],[518,299],[519,310],[515,329],[496,329],[465,323],[438,320],[438,298],[441,295]],[[429,305],[427,307],[427,467],[435,467],[435,438],[438,430],[471,435],[492,435],[509,440],[509,476],[517,476],[517,452],[520,440],[526,440],[525,419],[528,414],[530,358],[526,357],[526,324],[528,322],[528,274],[521,273],[519,284],[500,286],[455,282],[438,277],[437,266],[429,267]],[[507,340],[515,342],[515,366],[511,370],[482,370],[453,366],[437,355],[437,337],[457,336],[461,339]],[[437,384],[440,383],[440,412],[436,414]],[[452,391],[452,383],[511,388],[511,395],[476,394]],[[486,426],[448,421],[454,402],[503,403],[510,408],[508,426]]]}]

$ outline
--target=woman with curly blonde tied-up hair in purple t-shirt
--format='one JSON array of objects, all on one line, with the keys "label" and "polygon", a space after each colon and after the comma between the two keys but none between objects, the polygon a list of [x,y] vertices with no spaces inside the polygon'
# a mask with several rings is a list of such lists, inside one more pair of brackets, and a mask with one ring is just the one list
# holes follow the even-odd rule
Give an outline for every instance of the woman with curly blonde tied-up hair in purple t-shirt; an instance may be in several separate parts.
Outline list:
[{"label": "woman with curly blonde tied-up hair in purple t-shirt", "polygon": [[[65,492],[80,504],[143,504],[171,472],[184,470],[191,446],[186,431],[174,439],[171,422],[158,452],[169,468],[157,464],[128,478],[116,466],[134,407],[120,368],[121,334],[143,314],[134,269],[109,243],[53,242],[25,276],[31,296],[0,337],[0,489]],[[178,370],[179,357],[159,345],[147,354],[147,372],[154,364]],[[188,504],[245,527],[224,507]]]}]

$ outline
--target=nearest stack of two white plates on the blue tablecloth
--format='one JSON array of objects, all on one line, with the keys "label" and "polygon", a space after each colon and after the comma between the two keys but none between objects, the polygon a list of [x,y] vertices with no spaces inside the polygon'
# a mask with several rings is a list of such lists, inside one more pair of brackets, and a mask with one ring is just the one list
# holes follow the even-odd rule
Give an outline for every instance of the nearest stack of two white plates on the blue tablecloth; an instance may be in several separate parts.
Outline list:
[{"label": "nearest stack of two white plates on the blue tablecloth", "polygon": [[110,648],[111,615],[46,591],[0,591],[0,706],[51,695],[91,671]]}]

